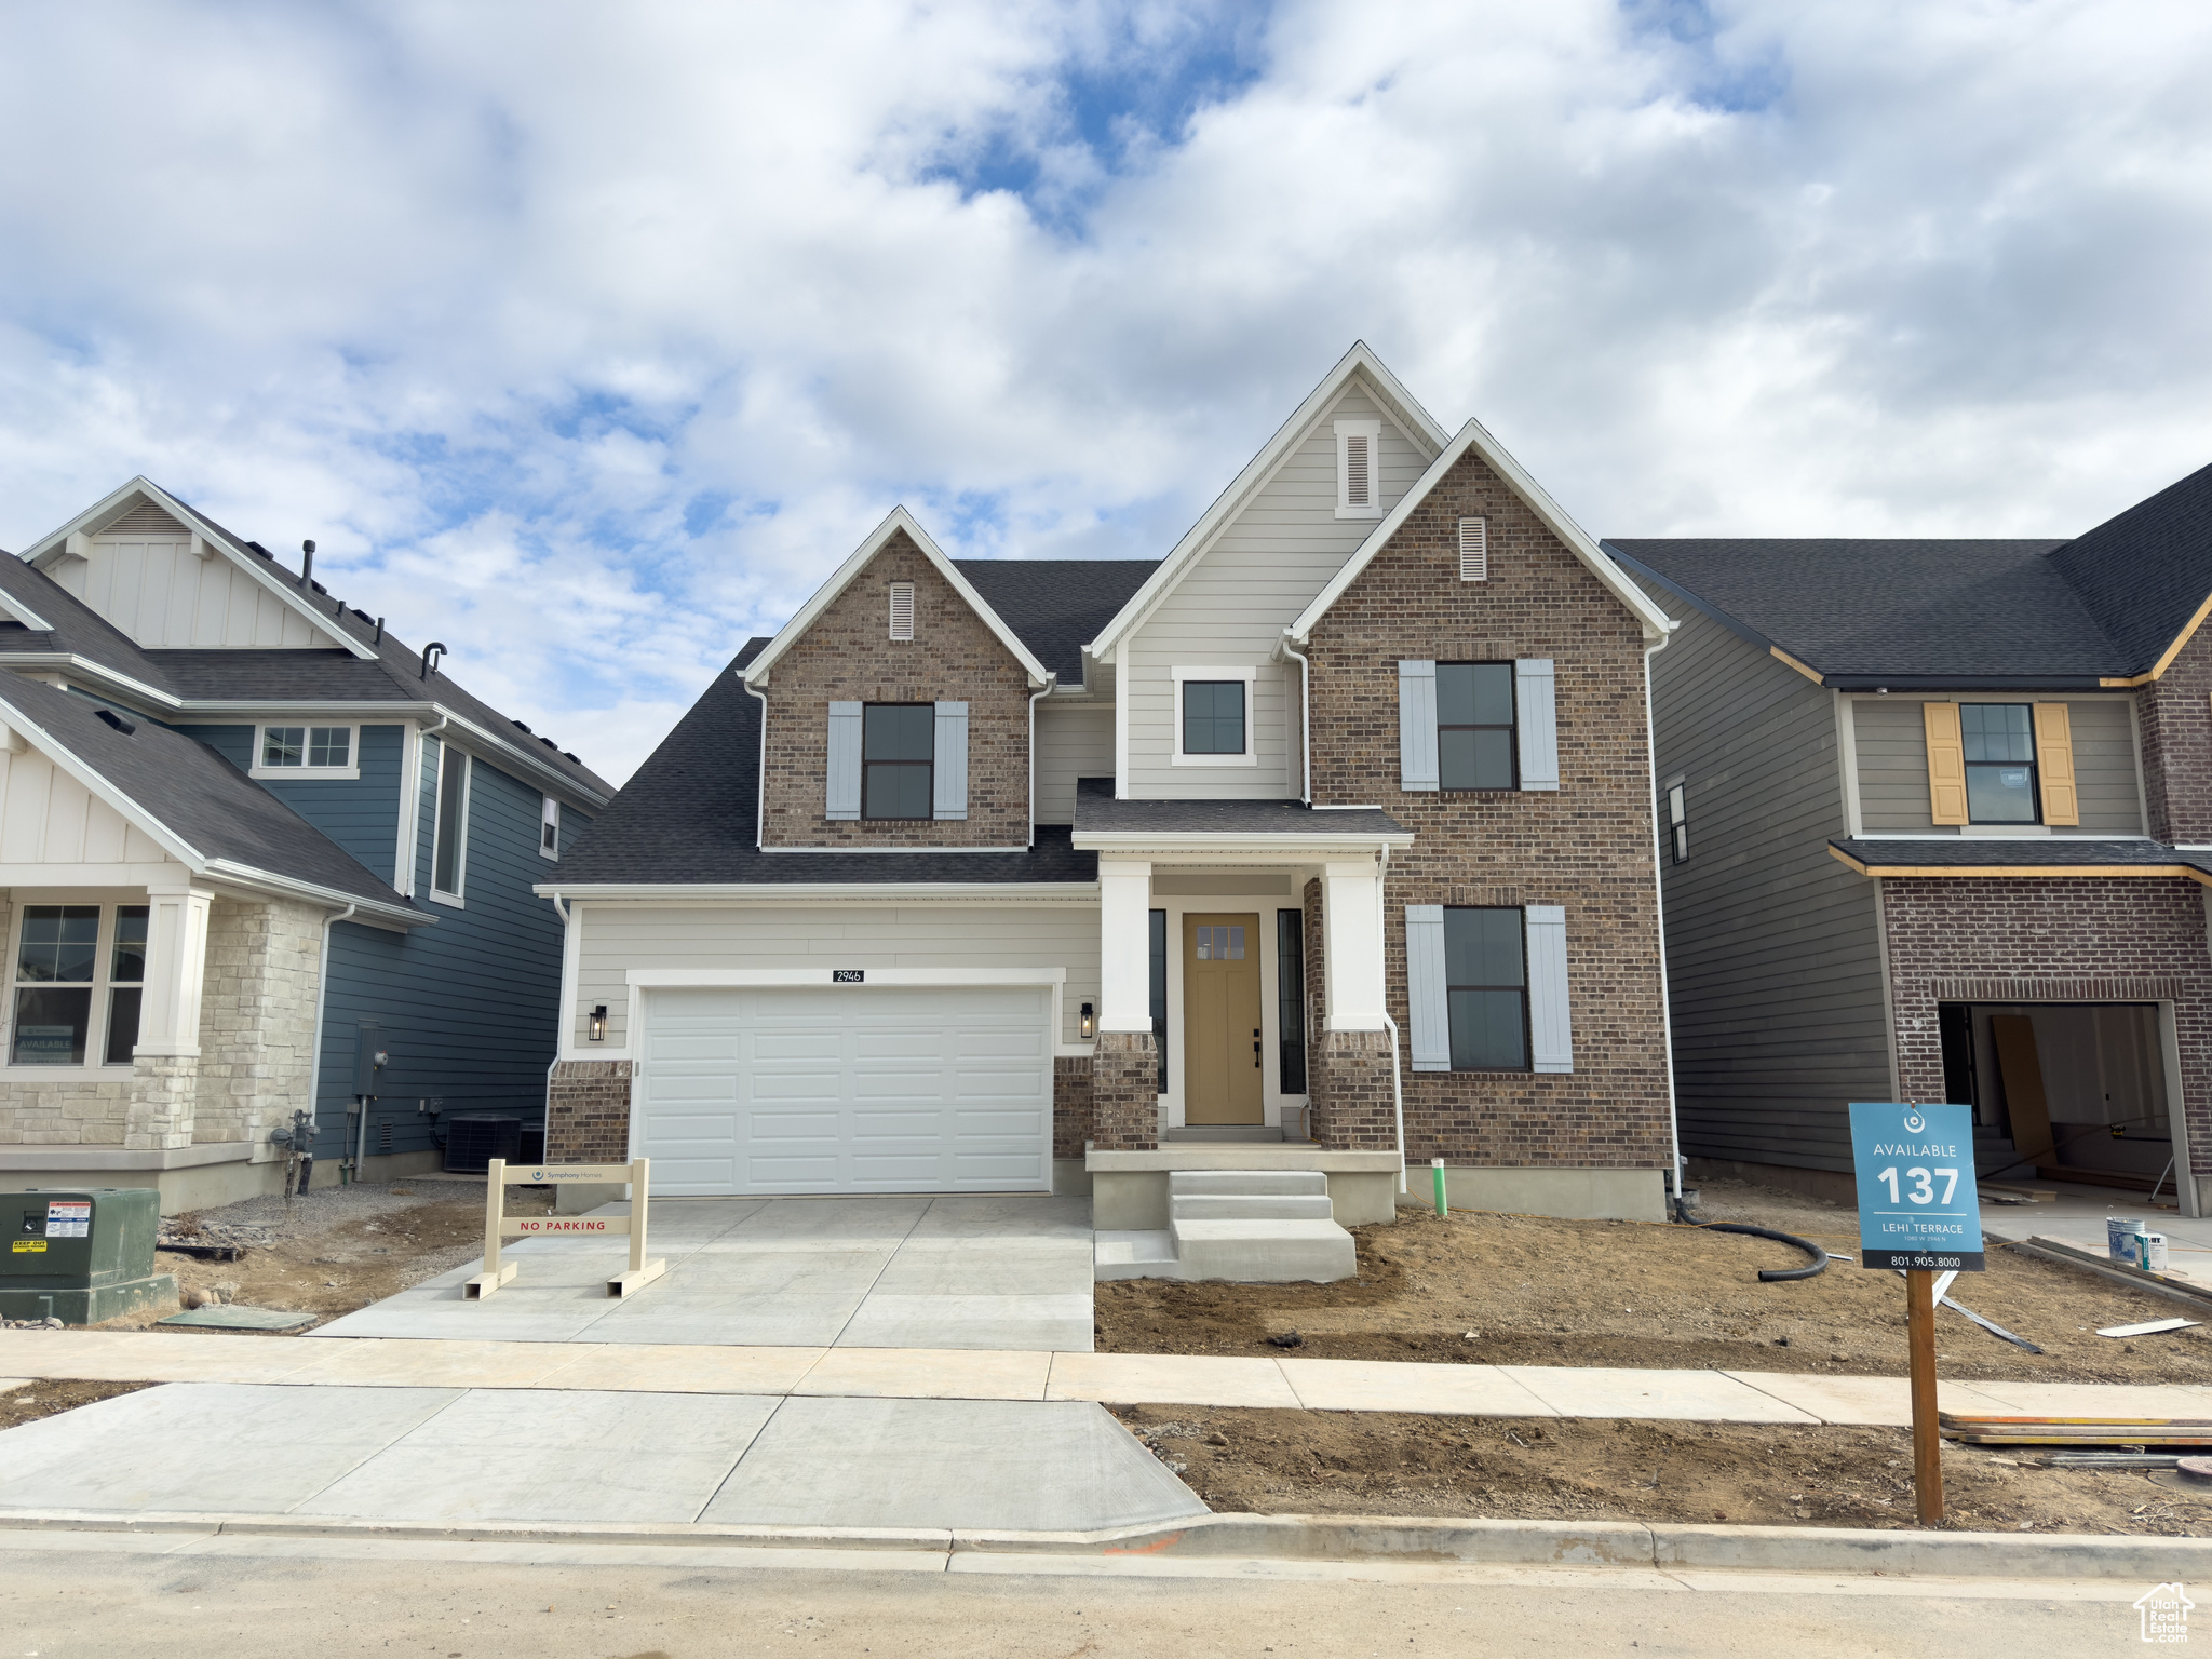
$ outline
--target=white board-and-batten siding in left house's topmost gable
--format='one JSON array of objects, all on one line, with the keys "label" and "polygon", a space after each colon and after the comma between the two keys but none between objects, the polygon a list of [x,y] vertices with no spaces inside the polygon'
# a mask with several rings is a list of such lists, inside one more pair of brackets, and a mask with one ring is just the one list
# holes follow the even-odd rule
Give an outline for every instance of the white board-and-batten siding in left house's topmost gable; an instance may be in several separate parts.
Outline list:
[{"label": "white board-and-batten siding in left house's topmost gable", "polygon": [[228,555],[199,557],[192,533],[157,507],[133,509],[82,546],[49,575],[148,650],[332,644]]}]

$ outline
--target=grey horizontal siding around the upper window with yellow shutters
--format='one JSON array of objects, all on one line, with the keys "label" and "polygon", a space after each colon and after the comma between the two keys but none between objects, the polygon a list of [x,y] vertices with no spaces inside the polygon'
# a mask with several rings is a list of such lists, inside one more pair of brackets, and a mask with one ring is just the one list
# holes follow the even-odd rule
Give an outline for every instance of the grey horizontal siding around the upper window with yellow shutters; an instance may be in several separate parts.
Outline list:
[{"label": "grey horizontal siding around the upper window with yellow shutters", "polygon": [[[1858,739],[1858,827],[1869,836],[1955,836],[1929,805],[1929,739],[1920,697],[1854,697]],[[1962,703],[2066,703],[2081,823],[2057,836],[2139,836],[2143,796],[2135,774],[2135,721],[2126,697],[1960,695]]]}]

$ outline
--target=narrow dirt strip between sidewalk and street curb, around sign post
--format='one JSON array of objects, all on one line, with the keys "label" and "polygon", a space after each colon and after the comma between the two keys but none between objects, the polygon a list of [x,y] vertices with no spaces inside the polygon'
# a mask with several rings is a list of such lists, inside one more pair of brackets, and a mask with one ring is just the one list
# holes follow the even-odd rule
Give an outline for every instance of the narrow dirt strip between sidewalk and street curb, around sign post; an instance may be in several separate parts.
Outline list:
[{"label": "narrow dirt strip between sidewalk and street curb, around sign post", "polygon": [[[1217,1511],[1918,1526],[1911,1433],[1741,1422],[1115,1407]],[[2137,1471],[1944,1447],[1955,1531],[2212,1535],[2212,1506]]]}]

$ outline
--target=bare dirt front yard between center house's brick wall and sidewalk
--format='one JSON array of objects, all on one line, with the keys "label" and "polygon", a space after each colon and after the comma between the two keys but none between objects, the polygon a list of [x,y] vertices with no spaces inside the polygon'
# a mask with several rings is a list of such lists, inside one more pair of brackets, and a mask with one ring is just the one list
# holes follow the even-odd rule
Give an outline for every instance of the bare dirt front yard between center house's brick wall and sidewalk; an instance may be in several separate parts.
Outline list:
[{"label": "bare dirt front yard between center house's brick wall and sidewalk", "polygon": [[[1405,1210],[1356,1228],[1358,1279],[1334,1285],[1097,1287],[1097,1345],[1115,1354],[1276,1354],[1464,1365],[1628,1365],[1668,1369],[1905,1376],[1905,1281],[1856,1261],[1818,1279],[1763,1285],[1759,1267],[1805,1256],[1765,1239],[1632,1221],[1548,1221]],[[1747,1183],[1705,1188],[1699,1217],[1752,1221],[1858,1254],[1851,1210]],[[2099,1325],[2192,1316],[2095,1274],[2006,1250],[1951,1294],[2044,1349],[2004,1343],[1938,1310],[1949,1378],[2203,1383],[2212,1318],[2168,1336],[2115,1340]]]}]

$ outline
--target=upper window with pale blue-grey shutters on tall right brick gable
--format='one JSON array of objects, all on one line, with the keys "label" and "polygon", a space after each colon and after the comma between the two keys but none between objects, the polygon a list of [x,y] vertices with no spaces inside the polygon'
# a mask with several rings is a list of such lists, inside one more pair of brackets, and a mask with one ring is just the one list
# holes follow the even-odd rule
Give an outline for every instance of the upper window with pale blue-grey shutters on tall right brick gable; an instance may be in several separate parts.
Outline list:
[{"label": "upper window with pale blue-grey shutters on tall right brick gable", "polygon": [[1557,790],[1551,657],[1398,664],[1398,787]]}]

